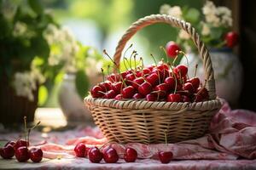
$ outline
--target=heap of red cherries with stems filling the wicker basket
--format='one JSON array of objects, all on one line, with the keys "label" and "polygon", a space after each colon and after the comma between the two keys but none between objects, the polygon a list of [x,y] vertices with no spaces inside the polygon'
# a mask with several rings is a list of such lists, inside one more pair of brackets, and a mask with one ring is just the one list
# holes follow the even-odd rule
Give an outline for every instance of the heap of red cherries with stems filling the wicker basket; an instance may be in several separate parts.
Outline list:
[{"label": "heap of red cherries with stems filling the wicker basket", "polygon": [[[166,55],[173,59],[172,63],[162,59],[154,65],[143,65],[143,59],[137,59],[137,52],[133,51],[130,59],[124,57],[126,71],[119,71],[118,65],[113,65],[118,73],[108,74],[107,81],[100,82],[90,89],[93,98],[102,99],[144,99],[148,101],[166,102],[201,102],[209,99],[205,83],[196,77],[188,77],[188,66],[174,65],[178,55],[186,55],[175,42],[168,42]],[[127,50],[126,50],[127,51]],[[168,60],[168,59],[166,59]],[[196,65],[195,65],[196,67]],[[103,70],[102,70],[103,74]],[[103,74],[104,77],[104,74]],[[103,78],[104,79],[104,78]]]}]

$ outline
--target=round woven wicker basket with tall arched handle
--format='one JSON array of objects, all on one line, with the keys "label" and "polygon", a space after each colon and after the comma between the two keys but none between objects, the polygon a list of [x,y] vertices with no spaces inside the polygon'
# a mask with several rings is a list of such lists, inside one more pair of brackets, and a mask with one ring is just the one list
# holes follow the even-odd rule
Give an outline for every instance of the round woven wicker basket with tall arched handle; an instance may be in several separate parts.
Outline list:
[{"label": "round woven wicker basket with tall arched handle", "polygon": [[[198,103],[152,102],[129,99],[84,99],[96,125],[106,138],[119,143],[164,143],[165,132],[168,142],[179,142],[201,137],[207,132],[212,116],[221,104],[216,99],[212,62],[201,38],[189,23],[169,15],[153,14],[137,20],[119,41],[114,61],[119,60],[126,42],[140,29],[155,23],[166,23],[188,32],[198,48],[205,68],[207,90],[210,100]],[[166,131],[167,130],[167,131]]]}]

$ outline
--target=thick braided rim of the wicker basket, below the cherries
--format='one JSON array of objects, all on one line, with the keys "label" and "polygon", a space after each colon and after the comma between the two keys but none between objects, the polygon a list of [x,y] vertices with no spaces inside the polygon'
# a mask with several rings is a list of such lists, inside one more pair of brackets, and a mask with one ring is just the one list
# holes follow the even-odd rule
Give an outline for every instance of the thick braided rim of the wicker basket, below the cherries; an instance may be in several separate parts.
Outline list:
[{"label": "thick braided rim of the wicker basket, below the cherries", "polygon": [[203,102],[166,102],[166,101],[147,101],[147,100],[116,100],[116,99],[102,99],[93,98],[88,95],[84,98],[85,105],[97,105],[102,107],[111,107],[116,109],[130,109],[130,110],[194,110],[194,111],[209,111],[219,109],[221,102],[218,98],[207,100]]}]

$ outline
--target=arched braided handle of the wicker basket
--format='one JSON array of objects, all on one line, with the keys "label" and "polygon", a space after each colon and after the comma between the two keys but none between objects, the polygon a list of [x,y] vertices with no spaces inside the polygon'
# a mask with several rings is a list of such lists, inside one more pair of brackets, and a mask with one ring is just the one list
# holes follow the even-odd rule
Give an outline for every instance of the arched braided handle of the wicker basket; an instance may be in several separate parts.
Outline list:
[{"label": "arched braided handle of the wicker basket", "polygon": [[183,31],[186,31],[190,35],[193,42],[195,43],[195,46],[198,48],[201,59],[203,60],[203,65],[205,69],[205,78],[207,80],[207,90],[209,91],[210,99],[216,99],[215,80],[214,80],[214,74],[212,70],[212,61],[211,61],[207,47],[203,42],[201,42],[201,38],[198,35],[198,33],[196,33],[194,27],[192,27],[188,22],[185,22],[184,20],[179,20],[170,15],[152,14],[134,22],[129,27],[129,29],[125,31],[125,34],[119,40],[119,44],[115,50],[115,54],[113,55],[113,60],[115,61],[115,63],[119,66],[121,54],[123,49],[125,48],[126,42],[128,42],[129,39],[137,31],[141,30],[143,27],[150,26],[155,23],[169,24],[171,26],[183,29]]}]

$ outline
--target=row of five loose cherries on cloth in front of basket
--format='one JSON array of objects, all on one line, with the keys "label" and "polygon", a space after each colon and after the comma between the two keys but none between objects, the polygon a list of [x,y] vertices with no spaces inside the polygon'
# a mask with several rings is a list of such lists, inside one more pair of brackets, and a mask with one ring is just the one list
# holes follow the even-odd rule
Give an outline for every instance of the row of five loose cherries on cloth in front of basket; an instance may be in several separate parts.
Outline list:
[{"label": "row of five loose cherries on cloth in front of basket", "polygon": [[[102,159],[106,163],[116,163],[119,161],[117,151],[111,146],[108,146],[106,149],[101,151],[96,146],[88,148],[85,144],[80,143],[75,146],[74,152],[78,157],[88,157],[92,163],[99,163],[102,161]],[[158,156],[162,163],[169,163],[172,160],[171,151],[160,151]],[[137,150],[134,150],[131,147],[126,148],[124,160],[126,162],[135,162],[137,160]]]}]

